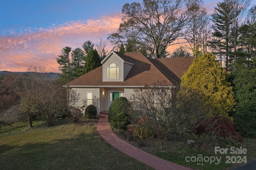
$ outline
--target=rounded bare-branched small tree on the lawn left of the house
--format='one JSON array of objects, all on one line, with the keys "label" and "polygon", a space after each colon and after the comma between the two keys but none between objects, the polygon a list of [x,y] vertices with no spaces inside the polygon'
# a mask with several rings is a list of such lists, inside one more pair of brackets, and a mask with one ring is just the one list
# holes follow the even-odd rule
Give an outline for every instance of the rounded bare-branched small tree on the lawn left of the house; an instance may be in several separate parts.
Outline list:
[{"label": "rounded bare-branched small tree on the lawn left of the house", "polygon": [[27,90],[21,101],[23,111],[28,117],[37,112],[46,125],[52,126],[58,117],[68,112],[66,94],[60,82],[38,80]]}]

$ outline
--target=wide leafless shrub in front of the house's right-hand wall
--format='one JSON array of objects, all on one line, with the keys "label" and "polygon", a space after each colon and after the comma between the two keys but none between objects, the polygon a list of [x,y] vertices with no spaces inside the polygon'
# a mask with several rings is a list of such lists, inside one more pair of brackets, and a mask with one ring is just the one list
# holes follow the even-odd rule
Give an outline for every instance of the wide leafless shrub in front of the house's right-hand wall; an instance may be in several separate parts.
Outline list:
[{"label": "wide leafless shrub in front of the house's right-hand wall", "polygon": [[134,89],[129,99],[132,101],[132,118],[144,119],[146,128],[150,128],[159,138],[169,140],[174,133],[186,134],[201,125],[209,112],[199,95],[179,87],[171,87],[165,81],[153,86]]}]

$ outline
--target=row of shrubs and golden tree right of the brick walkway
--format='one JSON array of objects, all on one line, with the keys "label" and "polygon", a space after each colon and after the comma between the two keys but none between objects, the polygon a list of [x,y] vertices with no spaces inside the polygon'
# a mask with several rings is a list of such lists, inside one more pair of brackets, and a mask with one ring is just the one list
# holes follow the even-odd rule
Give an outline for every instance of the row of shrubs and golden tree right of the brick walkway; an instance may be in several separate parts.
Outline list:
[{"label": "row of shrubs and golden tree right of the brick walkway", "polygon": [[199,140],[198,147],[240,145],[242,137],[256,138],[255,70],[227,74],[212,53],[198,53],[193,63],[176,88],[156,82],[134,89],[131,103],[123,97],[114,100],[108,113],[111,128],[128,126],[146,140],[179,135],[184,141]]}]

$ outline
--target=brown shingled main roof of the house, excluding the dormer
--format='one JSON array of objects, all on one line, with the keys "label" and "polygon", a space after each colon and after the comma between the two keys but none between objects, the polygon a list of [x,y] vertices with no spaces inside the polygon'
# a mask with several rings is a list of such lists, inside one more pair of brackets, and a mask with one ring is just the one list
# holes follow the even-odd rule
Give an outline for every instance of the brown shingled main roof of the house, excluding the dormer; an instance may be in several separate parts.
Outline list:
[{"label": "brown shingled main roof of the house, excluding the dormer", "polygon": [[[134,64],[123,82],[103,82],[102,66],[76,78],[66,86],[144,86],[166,80],[170,86],[177,86],[194,57],[148,59],[140,52],[116,53],[124,62]],[[107,57],[109,57],[108,55]],[[106,58],[105,58],[106,59]],[[104,60],[105,60],[104,59]],[[102,63],[104,63],[104,60]]]}]

